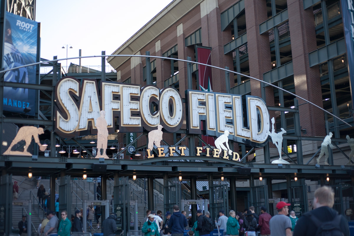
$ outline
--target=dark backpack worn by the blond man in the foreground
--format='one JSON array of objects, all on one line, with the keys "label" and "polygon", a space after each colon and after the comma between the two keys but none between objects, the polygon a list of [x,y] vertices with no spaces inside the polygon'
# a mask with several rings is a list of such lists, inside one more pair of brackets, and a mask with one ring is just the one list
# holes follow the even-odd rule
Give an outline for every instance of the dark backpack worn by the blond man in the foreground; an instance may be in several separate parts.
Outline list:
[{"label": "dark backpack worn by the blond man in the foreground", "polygon": [[311,212],[309,212],[308,217],[317,227],[316,236],[344,236],[344,233],[339,228],[339,225],[341,224],[341,215],[338,213],[336,213],[333,220],[326,222],[321,222]]}]

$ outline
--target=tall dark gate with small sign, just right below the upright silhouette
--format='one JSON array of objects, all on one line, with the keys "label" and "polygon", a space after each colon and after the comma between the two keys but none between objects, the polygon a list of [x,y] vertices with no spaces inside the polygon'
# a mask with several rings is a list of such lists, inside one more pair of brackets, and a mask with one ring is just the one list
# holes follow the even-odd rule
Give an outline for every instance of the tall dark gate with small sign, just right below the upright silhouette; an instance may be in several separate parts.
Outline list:
[{"label": "tall dark gate with small sign, just right below the upright silhouette", "polygon": [[113,209],[116,214],[117,231],[115,235],[120,235],[122,232],[127,235],[127,230],[130,229],[130,211],[129,211],[129,185],[128,177],[114,178],[113,189]]}]

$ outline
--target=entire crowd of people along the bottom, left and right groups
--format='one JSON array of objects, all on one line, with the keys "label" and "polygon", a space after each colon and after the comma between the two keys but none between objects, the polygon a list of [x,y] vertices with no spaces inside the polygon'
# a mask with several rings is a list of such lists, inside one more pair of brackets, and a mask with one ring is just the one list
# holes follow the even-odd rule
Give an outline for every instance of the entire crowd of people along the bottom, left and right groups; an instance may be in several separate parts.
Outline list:
[{"label": "entire crowd of people along the bottom, left and right groups", "polygon": [[[41,186],[39,190],[42,189]],[[244,212],[229,211],[228,217],[223,210],[219,211],[218,220],[211,219],[210,212],[202,209],[197,210],[197,220],[192,221],[192,215],[180,211],[179,206],[173,206],[173,213],[167,211],[165,220],[162,219],[162,211],[148,210],[141,229],[144,236],[183,236],[185,228],[190,227],[190,236],[209,236],[210,232],[218,228],[222,235],[230,236],[313,236],[328,235],[349,236],[349,225],[343,215],[334,209],[334,192],[331,188],[323,186],[315,191],[314,209],[297,218],[294,211],[290,211],[290,203],[280,201],[276,204],[278,214],[273,217],[267,212],[267,207],[260,207],[261,214],[255,213],[255,207],[251,206]],[[112,196],[113,198],[113,196]],[[38,230],[39,236],[47,236],[53,233],[59,236],[69,236],[70,232],[83,232],[82,228],[83,209],[77,210],[69,220],[67,212],[61,212],[59,222],[56,212],[48,211],[46,218],[42,220]],[[86,209],[89,227],[92,229],[92,220],[97,221],[101,216],[100,206],[89,206]],[[22,215],[18,223],[18,232],[21,236],[27,236],[27,215]],[[111,213],[102,222],[104,236],[114,236],[116,231],[116,215]]]}]

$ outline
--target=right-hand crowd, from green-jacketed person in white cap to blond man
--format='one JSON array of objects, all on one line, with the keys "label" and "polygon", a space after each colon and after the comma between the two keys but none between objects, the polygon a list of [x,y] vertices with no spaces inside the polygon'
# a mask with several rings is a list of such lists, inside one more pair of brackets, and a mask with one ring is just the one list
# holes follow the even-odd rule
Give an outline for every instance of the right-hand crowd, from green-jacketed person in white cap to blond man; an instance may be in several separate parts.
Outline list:
[{"label": "right-hand crowd, from green-jacketed person in white cap to blond man", "polygon": [[273,217],[267,212],[267,207],[260,207],[260,214],[255,213],[251,206],[243,212],[230,211],[229,217],[223,210],[219,211],[217,221],[211,219],[210,212],[197,210],[197,221],[192,222],[192,215],[186,217],[186,212],[179,211],[176,205],[173,214],[148,210],[144,218],[142,232],[144,236],[183,236],[184,230],[189,226],[190,236],[209,236],[210,232],[218,226],[221,235],[230,236],[313,236],[326,233],[328,235],[349,236],[348,221],[334,209],[334,192],[331,188],[323,186],[315,191],[313,211],[307,212],[298,218],[295,211],[290,211],[291,204],[280,201],[276,204],[278,214]]}]

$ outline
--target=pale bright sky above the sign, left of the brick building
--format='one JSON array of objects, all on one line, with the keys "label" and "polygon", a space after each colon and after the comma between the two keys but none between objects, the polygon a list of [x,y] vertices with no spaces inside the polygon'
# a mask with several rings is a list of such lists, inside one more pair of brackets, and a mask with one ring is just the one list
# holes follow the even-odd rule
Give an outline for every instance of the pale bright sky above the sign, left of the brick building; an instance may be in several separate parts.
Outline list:
[{"label": "pale bright sky above the sign, left of the brick building", "polygon": [[[68,57],[113,53],[172,0],[61,0],[36,1],[36,21],[41,23],[41,57]],[[79,64],[79,59],[72,60]],[[70,61],[68,61],[68,65]],[[101,65],[100,58],[81,60],[82,65]],[[106,64],[108,64],[106,62]],[[62,61],[66,65],[66,61]]]}]

